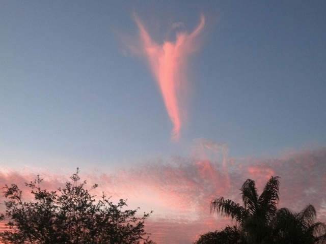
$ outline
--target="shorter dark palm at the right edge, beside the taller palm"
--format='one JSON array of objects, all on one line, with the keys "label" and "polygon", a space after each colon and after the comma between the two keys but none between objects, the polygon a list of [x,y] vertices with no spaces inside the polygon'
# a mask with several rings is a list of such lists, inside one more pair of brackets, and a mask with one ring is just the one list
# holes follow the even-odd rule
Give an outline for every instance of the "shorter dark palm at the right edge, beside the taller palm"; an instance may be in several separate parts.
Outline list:
[{"label": "shorter dark palm at the right edge, beside the taller palm", "polygon": [[279,244],[326,243],[326,225],[316,222],[316,209],[308,205],[300,212],[281,208],[276,213],[274,240]]}]

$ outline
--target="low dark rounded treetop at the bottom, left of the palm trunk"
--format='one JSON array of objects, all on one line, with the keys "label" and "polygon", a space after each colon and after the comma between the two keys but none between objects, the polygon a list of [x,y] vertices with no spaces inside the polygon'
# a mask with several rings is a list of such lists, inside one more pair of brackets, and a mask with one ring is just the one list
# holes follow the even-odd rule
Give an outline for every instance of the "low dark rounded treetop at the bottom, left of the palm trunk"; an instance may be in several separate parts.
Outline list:
[{"label": "low dark rounded treetop at the bottom, left of the palm trunk", "polygon": [[222,231],[214,231],[203,234],[195,244],[244,244],[241,232],[236,226],[227,226]]}]

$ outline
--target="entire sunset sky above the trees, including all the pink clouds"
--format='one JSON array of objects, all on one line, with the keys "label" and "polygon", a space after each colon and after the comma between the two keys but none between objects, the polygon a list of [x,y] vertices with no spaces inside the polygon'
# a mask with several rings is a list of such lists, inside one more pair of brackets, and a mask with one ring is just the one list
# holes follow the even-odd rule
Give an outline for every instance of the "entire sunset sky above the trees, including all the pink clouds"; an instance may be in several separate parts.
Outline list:
[{"label": "entire sunset sky above the trees, including all the pink clouds", "polygon": [[159,243],[225,225],[206,202],[247,177],[326,219],[324,1],[0,5],[2,182],[80,167],[154,210]]}]

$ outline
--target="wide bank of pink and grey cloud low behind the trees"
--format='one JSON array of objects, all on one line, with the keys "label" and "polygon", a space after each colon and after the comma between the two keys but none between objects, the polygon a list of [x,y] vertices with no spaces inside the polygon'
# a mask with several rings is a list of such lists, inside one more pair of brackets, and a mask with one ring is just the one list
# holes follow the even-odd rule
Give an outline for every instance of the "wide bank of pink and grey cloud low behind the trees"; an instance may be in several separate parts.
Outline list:
[{"label": "wide bank of pink and grey cloud low behind the trees", "polygon": [[[230,224],[230,220],[210,214],[210,201],[225,196],[241,202],[238,189],[244,180],[255,179],[261,191],[271,174],[281,176],[280,207],[300,210],[311,203],[318,217],[326,220],[326,148],[250,160],[227,158],[224,144],[201,140],[196,148],[199,153],[189,158],[143,164],[114,174],[82,171],[82,176],[89,185],[99,184],[98,195],[104,191],[113,199],[128,198],[131,208],[154,210],[146,228],[158,243],[191,243],[201,233]],[[68,178],[49,172],[41,175],[44,187],[50,189]],[[34,177],[32,173],[0,171],[0,184],[23,186]]]}]

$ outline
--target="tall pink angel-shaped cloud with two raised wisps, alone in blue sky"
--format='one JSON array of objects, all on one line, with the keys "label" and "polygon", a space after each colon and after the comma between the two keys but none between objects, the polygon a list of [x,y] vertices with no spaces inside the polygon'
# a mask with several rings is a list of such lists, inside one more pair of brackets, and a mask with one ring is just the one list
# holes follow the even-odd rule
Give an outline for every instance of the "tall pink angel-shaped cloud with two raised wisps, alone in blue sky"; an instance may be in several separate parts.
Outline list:
[{"label": "tall pink angel-shaped cloud with two raised wisps, alone in blue sky", "polygon": [[182,125],[178,92],[185,89],[187,85],[185,81],[181,81],[182,70],[186,65],[188,55],[197,49],[195,41],[205,25],[205,17],[201,16],[200,23],[192,33],[178,32],[175,42],[165,41],[161,45],[152,40],[144,24],[137,16],[135,22],[140,31],[142,49],[157,80],[166,109],[173,123],[172,137],[178,139]]}]

